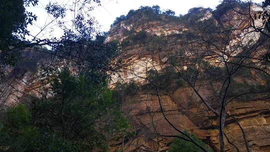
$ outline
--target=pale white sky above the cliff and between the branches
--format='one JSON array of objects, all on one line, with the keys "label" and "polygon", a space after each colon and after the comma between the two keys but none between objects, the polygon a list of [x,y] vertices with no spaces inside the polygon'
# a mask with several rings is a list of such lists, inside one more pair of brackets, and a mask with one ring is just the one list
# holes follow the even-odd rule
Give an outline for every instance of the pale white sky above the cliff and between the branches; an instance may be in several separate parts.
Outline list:
[{"label": "pale white sky above the cliff and between the branches", "polygon": [[[44,7],[48,2],[58,2],[59,4],[72,3],[74,0],[39,0],[38,5],[35,7],[27,7],[28,11],[32,11],[37,15],[37,21],[34,25],[29,26],[28,30],[32,35],[37,35],[38,38],[59,37],[62,31],[57,27],[57,23],[52,21],[52,16],[48,15]],[[130,9],[138,9],[139,6],[152,6],[159,5],[160,9],[171,9],[175,11],[175,15],[185,14],[188,9],[192,7],[210,7],[215,8],[219,4],[219,0],[100,0],[101,6],[96,6],[90,13],[95,17],[102,31],[108,31],[110,24],[113,20],[122,14],[126,15]],[[260,3],[263,0],[252,0],[253,2]],[[68,15],[67,15],[68,17]],[[65,21],[70,21],[71,18],[65,18]],[[40,29],[44,29],[39,33]],[[27,37],[31,39],[30,37]]]}]

